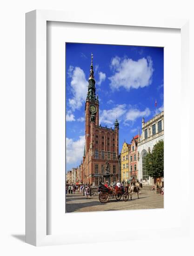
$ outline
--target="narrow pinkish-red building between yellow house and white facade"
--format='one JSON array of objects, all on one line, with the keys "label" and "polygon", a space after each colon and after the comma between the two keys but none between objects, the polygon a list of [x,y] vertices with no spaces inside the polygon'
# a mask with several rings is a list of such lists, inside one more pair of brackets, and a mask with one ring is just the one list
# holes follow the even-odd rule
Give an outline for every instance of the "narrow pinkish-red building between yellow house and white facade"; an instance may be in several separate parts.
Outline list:
[{"label": "narrow pinkish-red building between yellow house and white facade", "polygon": [[134,136],[131,141],[131,148],[130,148],[130,152],[129,152],[130,178],[134,177],[135,181],[138,179],[138,169],[137,169],[138,141],[139,141],[139,135]]}]

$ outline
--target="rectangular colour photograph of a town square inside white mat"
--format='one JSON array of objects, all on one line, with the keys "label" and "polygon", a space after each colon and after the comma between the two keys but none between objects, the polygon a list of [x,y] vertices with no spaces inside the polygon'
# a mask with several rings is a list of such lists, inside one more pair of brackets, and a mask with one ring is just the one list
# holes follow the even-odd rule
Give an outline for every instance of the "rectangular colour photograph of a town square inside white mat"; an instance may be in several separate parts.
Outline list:
[{"label": "rectangular colour photograph of a town square inside white mat", "polygon": [[164,208],[164,48],[64,47],[66,213]]}]

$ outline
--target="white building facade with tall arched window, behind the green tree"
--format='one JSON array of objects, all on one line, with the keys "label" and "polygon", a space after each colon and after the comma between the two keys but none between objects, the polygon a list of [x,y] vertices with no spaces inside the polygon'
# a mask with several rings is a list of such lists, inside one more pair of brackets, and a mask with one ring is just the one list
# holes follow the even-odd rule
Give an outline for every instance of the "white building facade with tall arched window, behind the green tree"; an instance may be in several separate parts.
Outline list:
[{"label": "white building facade with tall arched window, behind the green tree", "polygon": [[147,175],[145,156],[160,140],[164,140],[164,111],[147,122],[142,119],[142,134],[138,143],[138,180],[143,185],[154,184],[154,180]]}]

